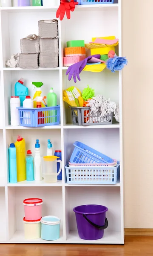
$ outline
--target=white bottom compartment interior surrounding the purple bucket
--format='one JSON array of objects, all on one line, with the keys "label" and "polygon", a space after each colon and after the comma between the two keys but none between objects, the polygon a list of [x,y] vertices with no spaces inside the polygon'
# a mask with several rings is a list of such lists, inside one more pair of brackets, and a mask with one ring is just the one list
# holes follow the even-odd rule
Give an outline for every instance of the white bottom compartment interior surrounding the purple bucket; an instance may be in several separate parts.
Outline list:
[{"label": "white bottom compartment interior surrounding the purple bucket", "polygon": [[[83,196],[82,196],[83,195]],[[114,243],[121,244],[121,204],[120,187],[88,186],[65,187],[66,237],[68,243]],[[108,207],[108,228],[104,237],[96,241],[79,238],[77,222],[73,208],[84,204],[100,204]]]}]

